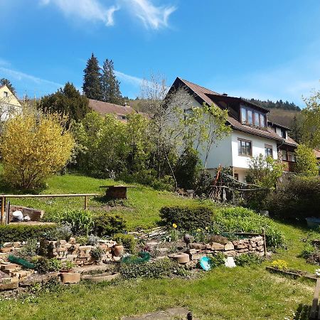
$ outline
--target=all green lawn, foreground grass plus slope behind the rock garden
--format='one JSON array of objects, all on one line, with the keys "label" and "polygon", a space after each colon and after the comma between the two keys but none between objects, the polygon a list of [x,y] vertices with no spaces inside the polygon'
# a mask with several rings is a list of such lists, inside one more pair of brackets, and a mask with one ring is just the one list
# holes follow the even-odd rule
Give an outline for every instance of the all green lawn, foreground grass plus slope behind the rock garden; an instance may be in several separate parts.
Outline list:
[{"label": "all green lawn, foreground grass plus slope behind the rock garden", "polygon": [[[97,193],[111,181],[77,175],[55,176],[48,180],[45,193]],[[131,210],[117,213],[129,228],[149,228],[159,220],[161,206],[187,203],[191,199],[173,193],[138,186],[128,191]],[[52,201],[52,202],[49,202]],[[41,208],[54,213],[62,208],[81,208],[83,200],[15,199],[12,203]],[[89,206],[102,206],[91,200]],[[314,272],[299,257],[309,232],[304,227],[276,222],[287,238],[288,249],[272,259],[284,259],[289,267]],[[80,284],[62,292],[43,293],[31,301],[0,301],[0,319],[120,319],[123,315],[185,306],[197,319],[294,319],[293,313],[311,304],[314,283],[270,274],[264,262],[254,268],[219,267],[203,272],[197,279],[134,279],[115,284]],[[304,318],[296,318],[304,319]]]}]

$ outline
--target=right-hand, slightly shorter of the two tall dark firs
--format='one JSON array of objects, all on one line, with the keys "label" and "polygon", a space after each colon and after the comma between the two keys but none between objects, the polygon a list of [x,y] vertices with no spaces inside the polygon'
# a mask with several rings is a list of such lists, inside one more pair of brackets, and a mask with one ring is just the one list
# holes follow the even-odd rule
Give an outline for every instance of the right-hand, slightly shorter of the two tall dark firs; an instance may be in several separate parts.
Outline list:
[{"label": "right-hand, slightly shorter of the two tall dark firs", "polygon": [[102,100],[105,102],[122,105],[124,99],[120,92],[120,82],[114,75],[114,65],[112,60],[105,60],[102,67],[101,86]]}]

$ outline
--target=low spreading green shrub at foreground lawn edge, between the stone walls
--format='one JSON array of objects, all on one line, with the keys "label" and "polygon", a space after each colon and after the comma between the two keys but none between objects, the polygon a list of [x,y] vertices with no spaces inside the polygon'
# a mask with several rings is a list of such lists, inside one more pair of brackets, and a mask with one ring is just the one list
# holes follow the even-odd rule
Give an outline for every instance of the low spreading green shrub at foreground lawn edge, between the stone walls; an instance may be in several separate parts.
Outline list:
[{"label": "low spreading green shrub at foreground lawn edge, between the stone walls", "polygon": [[120,273],[124,279],[132,279],[137,277],[145,278],[163,278],[169,277],[171,274],[183,274],[181,266],[178,263],[166,259],[156,260],[154,262],[145,262],[137,265],[125,265],[120,267]]}]

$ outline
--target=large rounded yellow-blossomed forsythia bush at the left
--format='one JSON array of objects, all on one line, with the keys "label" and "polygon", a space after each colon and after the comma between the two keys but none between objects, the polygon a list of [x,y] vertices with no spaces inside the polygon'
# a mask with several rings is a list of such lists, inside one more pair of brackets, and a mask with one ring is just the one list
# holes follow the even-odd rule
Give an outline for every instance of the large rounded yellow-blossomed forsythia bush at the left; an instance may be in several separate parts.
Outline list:
[{"label": "large rounded yellow-blossomed forsythia bush at the left", "polygon": [[4,127],[0,144],[4,178],[14,187],[37,188],[65,166],[73,144],[57,114],[24,112]]}]

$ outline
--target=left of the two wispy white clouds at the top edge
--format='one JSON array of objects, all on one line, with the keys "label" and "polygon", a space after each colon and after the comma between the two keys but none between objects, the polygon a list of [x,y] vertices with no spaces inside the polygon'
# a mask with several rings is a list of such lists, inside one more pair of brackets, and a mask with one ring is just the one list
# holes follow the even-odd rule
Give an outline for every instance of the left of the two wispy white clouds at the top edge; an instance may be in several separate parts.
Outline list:
[{"label": "left of the two wispy white clouds at the top edge", "polygon": [[102,21],[106,26],[114,25],[114,12],[119,6],[106,8],[97,0],[41,0],[40,4],[58,6],[65,16],[77,16],[87,21]]}]

